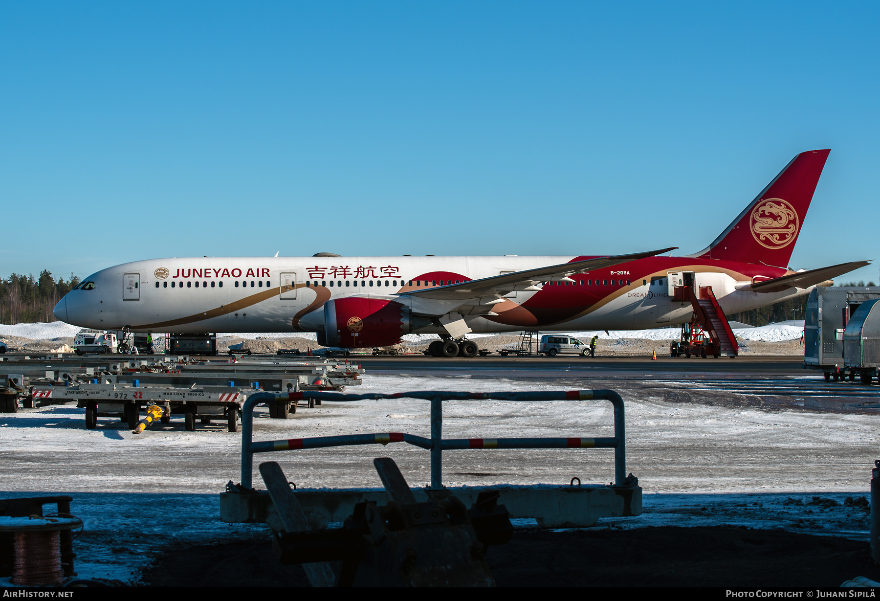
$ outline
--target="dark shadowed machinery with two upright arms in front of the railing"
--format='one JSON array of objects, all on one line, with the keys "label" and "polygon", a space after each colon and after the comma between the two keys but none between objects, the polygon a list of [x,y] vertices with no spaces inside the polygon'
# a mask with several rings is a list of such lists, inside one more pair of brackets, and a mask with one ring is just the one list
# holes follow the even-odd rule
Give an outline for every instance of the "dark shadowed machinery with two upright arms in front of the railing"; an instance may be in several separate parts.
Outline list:
[{"label": "dark shadowed machinery with two upright arms in front of the railing", "polygon": [[[260,475],[282,519],[273,546],[282,564],[301,563],[312,586],[494,586],[485,560],[513,526],[497,494],[468,510],[455,496],[417,502],[391,458],[373,459],[389,501],[358,503],[339,529],[314,531],[275,461]],[[328,561],[341,561],[338,578]]]}]

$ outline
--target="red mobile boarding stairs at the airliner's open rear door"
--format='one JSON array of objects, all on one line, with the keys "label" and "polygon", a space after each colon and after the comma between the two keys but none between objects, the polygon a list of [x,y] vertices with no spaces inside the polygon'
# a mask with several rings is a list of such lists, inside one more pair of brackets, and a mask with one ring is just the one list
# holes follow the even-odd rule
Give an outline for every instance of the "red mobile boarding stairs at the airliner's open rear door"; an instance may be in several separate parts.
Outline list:
[{"label": "red mobile boarding stairs at the airliner's open rear door", "polygon": [[691,286],[675,286],[672,300],[689,302],[693,309],[690,323],[682,324],[681,338],[672,342],[670,355],[677,357],[699,355],[705,359],[712,355],[717,359],[727,355],[731,359],[739,353],[737,338],[711,286],[700,286],[700,296]]}]

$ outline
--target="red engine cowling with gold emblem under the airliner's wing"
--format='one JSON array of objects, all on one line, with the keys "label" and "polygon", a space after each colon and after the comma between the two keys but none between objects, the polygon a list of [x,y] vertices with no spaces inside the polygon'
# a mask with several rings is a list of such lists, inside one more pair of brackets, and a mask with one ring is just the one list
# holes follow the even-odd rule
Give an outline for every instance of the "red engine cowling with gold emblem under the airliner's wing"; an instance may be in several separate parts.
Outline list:
[{"label": "red engine cowling with gold emblem under the airliner's wing", "polygon": [[330,347],[386,347],[410,333],[407,307],[383,297],[345,297],[324,304],[326,344]]}]

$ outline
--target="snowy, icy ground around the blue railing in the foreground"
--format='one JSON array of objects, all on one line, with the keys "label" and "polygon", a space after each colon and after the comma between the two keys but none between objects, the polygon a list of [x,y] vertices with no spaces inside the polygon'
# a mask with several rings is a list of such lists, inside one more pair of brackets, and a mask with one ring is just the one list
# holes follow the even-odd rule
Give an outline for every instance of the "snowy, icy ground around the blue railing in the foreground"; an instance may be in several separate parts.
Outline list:
[{"label": "snowy, icy ground around the blue railing in the foreground", "polygon": [[[607,383],[595,382],[595,387]],[[364,377],[357,392],[547,390],[533,380],[437,375]],[[694,393],[691,389],[690,392]],[[867,537],[867,513],[843,504],[867,495],[880,417],[769,412],[667,403],[627,393],[627,471],[644,489],[642,517],[598,527],[733,524]],[[254,439],[357,432],[429,435],[429,404],[414,399],[325,403],[287,421],[259,410]],[[603,401],[450,402],[444,436],[611,436]],[[212,424],[184,432],[180,418],[140,435],[121,422],[84,429],[82,409],[0,414],[0,497],[70,494],[85,520],[80,576],[135,582],[151,556],[174,544],[252,536],[262,524],[219,522],[216,494],[238,481],[240,435]],[[302,487],[381,487],[371,459],[394,458],[412,486],[429,480],[429,454],[406,444],[290,451],[279,461]],[[444,454],[448,486],[612,480],[611,450],[495,450]],[[822,500],[814,502],[816,496]],[[807,504],[805,504],[807,503]],[[836,504],[834,504],[836,503]]]}]

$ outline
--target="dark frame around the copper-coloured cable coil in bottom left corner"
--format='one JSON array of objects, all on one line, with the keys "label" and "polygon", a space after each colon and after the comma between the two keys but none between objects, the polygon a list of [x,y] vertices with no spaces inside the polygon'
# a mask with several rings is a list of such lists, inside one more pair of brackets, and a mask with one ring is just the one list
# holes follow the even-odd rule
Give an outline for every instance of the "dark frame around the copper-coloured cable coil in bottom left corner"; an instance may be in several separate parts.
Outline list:
[{"label": "dark frame around the copper-coloured cable coil in bottom left corner", "polygon": [[[53,517],[58,520],[55,524],[63,524],[57,529],[58,532],[58,551],[60,553],[60,564],[62,574],[64,576],[76,575],[73,568],[73,560],[77,557],[73,553],[73,536],[71,528],[78,528],[82,525],[79,518],[70,514],[70,502],[73,497],[70,496],[35,496],[24,497],[19,499],[0,499],[0,516],[3,517]],[[56,510],[54,513],[44,514],[43,505],[47,503],[55,503]],[[70,528],[68,527],[70,524]],[[15,564],[15,545],[14,530],[0,531],[0,578],[11,576]],[[51,529],[50,529],[51,531]]]}]

